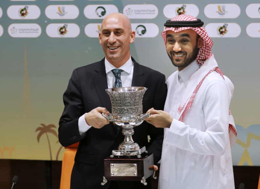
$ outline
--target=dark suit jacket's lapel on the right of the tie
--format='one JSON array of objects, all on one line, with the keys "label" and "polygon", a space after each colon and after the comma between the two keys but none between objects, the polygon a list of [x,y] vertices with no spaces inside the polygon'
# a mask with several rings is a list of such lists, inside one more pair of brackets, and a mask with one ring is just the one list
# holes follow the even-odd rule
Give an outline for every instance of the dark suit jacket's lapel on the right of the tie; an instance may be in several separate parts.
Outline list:
[{"label": "dark suit jacket's lapel on the right of the tie", "polygon": [[134,63],[134,73],[133,73],[133,80],[132,80],[132,87],[142,87],[145,84],[145,80],[143,79],[144,70],[138,64],[133,57],[132,61]]}]

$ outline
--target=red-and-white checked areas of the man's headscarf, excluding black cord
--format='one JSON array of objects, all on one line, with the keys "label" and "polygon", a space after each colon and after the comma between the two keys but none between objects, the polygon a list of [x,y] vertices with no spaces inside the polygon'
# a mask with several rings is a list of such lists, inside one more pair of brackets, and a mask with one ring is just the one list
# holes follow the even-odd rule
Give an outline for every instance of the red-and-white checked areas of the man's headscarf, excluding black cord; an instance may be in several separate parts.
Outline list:
[{"label": "red-and-white checked areas of the man's headscarf, excluding black cord", "polygon": [[[171,19],[171,21],[195,21],[197,20],[197,18],[187,15],[187,14],[183,14],[180,16],[176,16],[174,18]],[[191,29],[193,31],[195,31],[202,39],[203,39],[203,45],[200,48],[198,54],[197,54],[197,63],[202,66],[204,64],[204,62],[209,59],[210,57],[213,56],[211,49],[213,46],[213,41],[212,39],[210,39],[209,35],[207,34],[207,31],[205,30],[204,27],[178,27],[178,28],[174,28],[174,27],[164,27],[164,30],[162,31],[161,35],[162,38],[164,40],[164,44],[165,47],[167,47],[167,42],[166,42],[166,32],[168,30],[171,30],[173,32],[180,32],[182,30],[188,30]],[[191,108],[193,100],[195,99],[195,96],[197,94],[197,91],[199,90],[200,86],[202,85],[202,82],[204,81],[204,79],[213,71],[216,71],[217,73],[219,73],[221,75],[221,77],[224,79],[224,75],[222,73],[222,71],[218,68],[215,67],[211,70],[209,70],[204,77],[200,80],[200,82],[197,84],[195,90],[193,91],[193,93],[189,96],[189,99],[187,99],[185,104],[181,104],[178,108],[178,112],[180,113],[182,111],[181,116],[179,117],[179,121],[184,121],[184,118],[188,112],[188,110]],[[229,79],[228,79],[229,80]],[[229,80],[230,81],[230,80]],[[231,81],[230,81],[231,83]],[[234,123],[234,119],[233,116],[229,110],[229,126],[228,126],[228,131],[229,131],[229,138],[230,138],[230,144],[233,145],[235,143],[235,140],[237,138],[237,132],[236,132],[236,128],[235,128],[235,123]]]}]

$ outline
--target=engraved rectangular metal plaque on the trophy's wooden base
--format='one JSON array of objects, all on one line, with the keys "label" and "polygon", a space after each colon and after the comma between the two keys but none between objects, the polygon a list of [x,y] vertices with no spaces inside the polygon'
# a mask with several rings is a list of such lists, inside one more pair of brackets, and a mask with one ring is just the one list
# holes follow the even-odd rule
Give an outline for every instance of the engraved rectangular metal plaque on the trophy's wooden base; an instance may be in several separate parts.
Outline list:
[{"label": "engraved rectangular metal plaque on the trophy's wooden base", "polygon": [[110,164],[111,176],[137,176],[137,164]]}]

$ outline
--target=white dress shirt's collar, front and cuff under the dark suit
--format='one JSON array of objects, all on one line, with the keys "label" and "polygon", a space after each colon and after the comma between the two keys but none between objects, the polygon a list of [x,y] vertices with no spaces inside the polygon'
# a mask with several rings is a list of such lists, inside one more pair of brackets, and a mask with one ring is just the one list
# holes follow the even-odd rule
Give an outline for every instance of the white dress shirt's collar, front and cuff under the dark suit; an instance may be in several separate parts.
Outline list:
[{"label": "white dress shirt's collar, front and cuff under the dark suit", "polygon": [[[112,88],[115,83],[115,75],[112,73],[112,69],[115,69],[116,67],[113,66],[106,58],[105,58],[105,70],[107,75],[107,82],[108,82],[108,88]],[[122,87],[131,87],[132,86],[132,80],[133,80],[133,73],[134,73],[134,63],[130,58],[126,61],[126,63],[123,64],[120,68],[123,71],[121,72],[121,81],[122,81]],[[85,120],[85,114],[79,117],[78,121],[79,125],[79,134],[84,135],[87,130],[91,128],[86,123]]]}]

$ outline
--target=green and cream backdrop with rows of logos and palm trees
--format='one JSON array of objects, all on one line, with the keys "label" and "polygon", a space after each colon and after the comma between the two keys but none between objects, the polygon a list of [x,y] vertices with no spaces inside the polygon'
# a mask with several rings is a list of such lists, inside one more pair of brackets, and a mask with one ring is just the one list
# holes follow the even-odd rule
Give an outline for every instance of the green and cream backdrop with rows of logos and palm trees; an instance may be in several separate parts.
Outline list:
[{"label": "green and cream backdrop with rows of logos and palm trees", "polygon": [[74,68],[99,61],[102,19],[122,12],[137,36],[131,55],[168,77],[176,71],[161,39],[177,14],[204,21],[213,53],[235,85],[234,165],[260,165],[260,4],[250,1],[5,0],[0,2],[0,158],[61,160],[58,121]]}]

